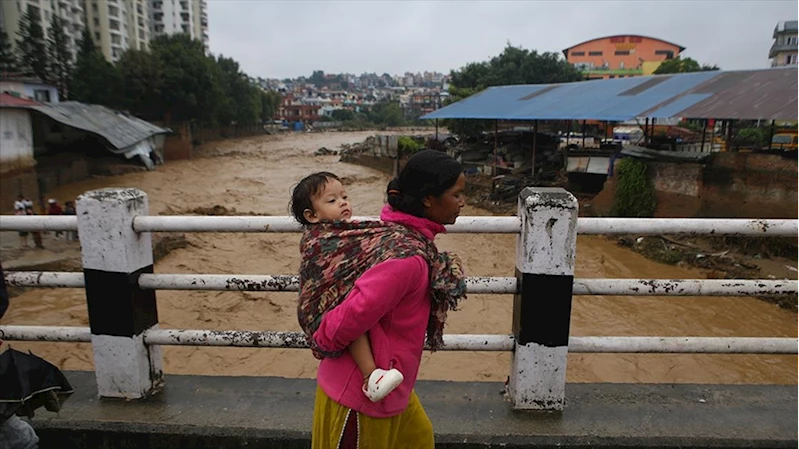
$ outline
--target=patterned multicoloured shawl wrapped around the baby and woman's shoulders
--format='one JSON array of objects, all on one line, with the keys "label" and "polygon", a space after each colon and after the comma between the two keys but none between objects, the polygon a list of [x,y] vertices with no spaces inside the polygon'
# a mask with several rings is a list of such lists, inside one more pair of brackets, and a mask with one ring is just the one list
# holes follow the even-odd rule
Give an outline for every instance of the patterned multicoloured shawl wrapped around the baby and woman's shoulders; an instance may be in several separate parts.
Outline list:
[{"label": "patterned multicoloured shawl wrapped around the baby and woman's shoulders", "polygon": [[385,221],[335,221],[310,226],[300,240],[300,297],[297,317],[314,356],[337,357],[313,341],[322,316],[341,304],[355,281],[369,268],[388,259],[422,256],[430,269],[431,308],[427,343],[432,350],[443,345],[448,310],[466,298],[460,259],[439,253],[420,232]]}]

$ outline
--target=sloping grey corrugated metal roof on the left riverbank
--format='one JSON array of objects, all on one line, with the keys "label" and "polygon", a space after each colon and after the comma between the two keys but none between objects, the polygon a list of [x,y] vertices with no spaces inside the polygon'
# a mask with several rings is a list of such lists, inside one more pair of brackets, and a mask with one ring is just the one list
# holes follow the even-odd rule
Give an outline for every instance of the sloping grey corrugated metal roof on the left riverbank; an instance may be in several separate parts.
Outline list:
[{"label": "sloping grey corrugated metal roof on the left riverbank", "polygon": [[96,104],[66,101],[30,106],[51,119],[73,128],[97,134],[117,150],[124,150],[156,134],[170,130],[153,125],[132,115]]}]

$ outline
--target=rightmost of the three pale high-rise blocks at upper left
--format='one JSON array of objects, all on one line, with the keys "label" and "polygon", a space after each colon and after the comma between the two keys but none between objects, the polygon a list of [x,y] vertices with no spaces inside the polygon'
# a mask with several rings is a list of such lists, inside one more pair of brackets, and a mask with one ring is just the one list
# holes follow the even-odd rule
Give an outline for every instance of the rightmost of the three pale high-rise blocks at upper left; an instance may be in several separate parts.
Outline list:
[{"label": "rightmost of the three pale high-rise blocks at upper left", "polygon": [[149,0],[153,37],[185,33],[208,49],[206,0]]}]

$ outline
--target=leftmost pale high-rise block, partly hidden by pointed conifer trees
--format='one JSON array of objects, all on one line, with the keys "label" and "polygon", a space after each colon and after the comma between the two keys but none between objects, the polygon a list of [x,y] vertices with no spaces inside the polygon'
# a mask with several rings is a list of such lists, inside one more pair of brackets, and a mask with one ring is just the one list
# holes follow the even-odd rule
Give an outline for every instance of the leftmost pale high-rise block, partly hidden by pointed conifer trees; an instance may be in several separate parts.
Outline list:
[{"label": "leftmost pale high-rise block, partly hidden by pointed conifer trees", "polygon": [[78,43],[83,35],[84,0],[2,0],[0,1],[0,28],[8,35],[12,46],[16,46],[19,32],[19,19],[25,11],[34,11],[41,19],[45,38],[50,35],[53,16],[64,21],[64,34],[67,37],[67,48],[72,53],[73,61],[78,54]]}]

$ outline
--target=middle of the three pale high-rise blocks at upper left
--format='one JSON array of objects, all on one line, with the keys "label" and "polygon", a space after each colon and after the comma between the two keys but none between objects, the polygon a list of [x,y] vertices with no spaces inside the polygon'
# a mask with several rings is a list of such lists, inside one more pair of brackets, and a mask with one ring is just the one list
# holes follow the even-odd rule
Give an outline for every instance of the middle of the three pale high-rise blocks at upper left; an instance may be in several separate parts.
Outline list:
[{"label": "middle of the three pale high-rise blocks at upper left", "polygon": [[125,50],[146,50],[150,41],[148,0],[84,0],[86,26],[105,59]]}]

